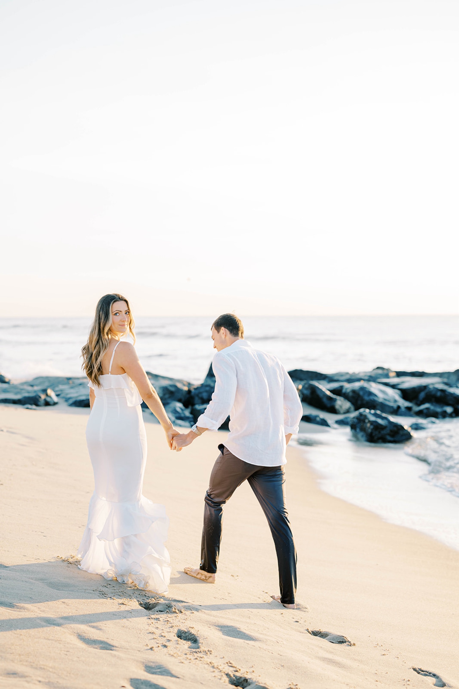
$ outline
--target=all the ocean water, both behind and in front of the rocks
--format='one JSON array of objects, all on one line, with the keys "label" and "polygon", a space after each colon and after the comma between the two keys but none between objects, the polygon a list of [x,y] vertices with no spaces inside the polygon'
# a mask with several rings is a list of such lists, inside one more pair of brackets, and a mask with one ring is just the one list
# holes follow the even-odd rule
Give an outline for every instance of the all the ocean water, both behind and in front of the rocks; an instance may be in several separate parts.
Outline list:
[{"label": "all the ocean water, both behind and in front of the rocks", "polygon": [[[81,376],[90,320],[3,319],[0,373],[14,382]],[[136,318],[136,348],[145,369],[201,382],[214,353],[211,320]],[[278,356],[288,370],[459,368],[459,316],[251,317],[244,318],[244,327],[247,340]],[[356,443],[349,429],[301,426],[308,443],[303,452],[325,491],[459,548],[459,419],[418,431],[402,447]]]}]

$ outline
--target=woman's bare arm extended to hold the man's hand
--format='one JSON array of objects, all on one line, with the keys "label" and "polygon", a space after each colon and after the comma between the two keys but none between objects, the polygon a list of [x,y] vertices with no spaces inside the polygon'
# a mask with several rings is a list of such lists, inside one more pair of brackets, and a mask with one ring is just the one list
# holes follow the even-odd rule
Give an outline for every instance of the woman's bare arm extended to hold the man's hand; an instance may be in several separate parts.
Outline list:
[{"label": "woman's bare arm extended to hold the man's hand", "polygon": [[118,354],[118,352],[118,365],[125,370],[131,380],[134,380],[140,397],[160,422],[171,448],[172,439],[175,435],[179,435],[179,432],[174,429],[169,416],[162,406],[158,393],[148,380],[147,373],[145,373],[145,369],[138,359],[136,350],[129,342],[121,342],[116,353]]}]

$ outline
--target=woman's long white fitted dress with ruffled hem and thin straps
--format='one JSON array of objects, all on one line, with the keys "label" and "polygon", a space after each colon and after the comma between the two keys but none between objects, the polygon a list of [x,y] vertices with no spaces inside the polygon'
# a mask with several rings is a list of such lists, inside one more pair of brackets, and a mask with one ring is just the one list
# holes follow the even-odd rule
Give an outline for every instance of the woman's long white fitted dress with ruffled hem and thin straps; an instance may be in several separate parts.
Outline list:
[{"label": "woman's long white fitted dress with ruffled hem and thin straps", "polygon": [[116,347],[109,373],[100,376],[101,387],[89,382],[96,395],[86,428],[95,489],[78,548],[80,567],[167,593],[171,567],[164,542],[169,519],[163,505],[142,495],[147,461],[142,398],[127,373],[112,375]]}]

